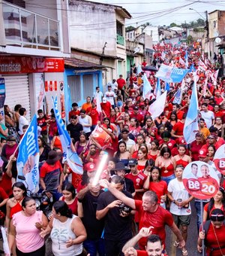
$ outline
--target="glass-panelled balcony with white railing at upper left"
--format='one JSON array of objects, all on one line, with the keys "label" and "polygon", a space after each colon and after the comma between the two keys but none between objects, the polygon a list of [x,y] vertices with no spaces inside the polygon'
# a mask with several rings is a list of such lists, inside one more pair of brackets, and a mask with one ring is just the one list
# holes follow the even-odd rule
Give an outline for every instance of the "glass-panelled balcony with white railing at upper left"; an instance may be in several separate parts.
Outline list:
[{"label": "glass-panelled balcony with white railing at upper left", "polygon": [[26,9],[2,3],[7,45],[60,50],[59,22]]}]

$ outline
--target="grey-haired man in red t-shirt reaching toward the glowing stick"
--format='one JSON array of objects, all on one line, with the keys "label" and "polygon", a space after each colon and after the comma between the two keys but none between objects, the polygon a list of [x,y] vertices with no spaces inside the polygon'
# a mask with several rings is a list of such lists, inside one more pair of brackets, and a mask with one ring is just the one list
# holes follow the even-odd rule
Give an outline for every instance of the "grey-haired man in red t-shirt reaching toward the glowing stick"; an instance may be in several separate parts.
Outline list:
[{"label": "grey-haired man in red t-shirt reaching toward the glowing stick", "polygon": [[[109,183],[109,181],[101,181],[101,186],[107,187],[110,192],[121,200],[126,206],[130,206],[132,209],[136,210],[139,214],[139,230],[142,227],[153,227],[152,233],[160,237],[162,244],[165,245],[166,230],[165,226],[168,225],[172,232],[177,236],[179,241],[179,247],[184,248],[185,242],[181,235],[180,230],[175,225],[172,214],[166,209],[163,209],[157,204],[157,195],[154,191],[146,191],[141,200],[133,200],[126,197],[120,191],[115,190],[115,188]],[[147,239],[142,238],[139,240],[139,248],[141,250],[145,249],[147,244]],[[164,247],[165,248],[165,247]]]}]

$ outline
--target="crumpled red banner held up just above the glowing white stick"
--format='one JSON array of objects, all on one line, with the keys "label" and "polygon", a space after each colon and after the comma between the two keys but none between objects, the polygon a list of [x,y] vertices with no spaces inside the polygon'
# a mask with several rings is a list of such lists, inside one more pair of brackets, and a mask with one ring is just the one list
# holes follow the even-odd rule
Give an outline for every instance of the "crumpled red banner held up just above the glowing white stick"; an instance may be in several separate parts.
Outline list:
[{"label": "crumpled red banner held up just above the glowing white stick", "polygon": [[105,148],[113,149],[113,141],[111,136],[107,132],[105,132],[100,126],[95,127],[95,130],[92,132],[92,139],[98,142],[103,150]]}]

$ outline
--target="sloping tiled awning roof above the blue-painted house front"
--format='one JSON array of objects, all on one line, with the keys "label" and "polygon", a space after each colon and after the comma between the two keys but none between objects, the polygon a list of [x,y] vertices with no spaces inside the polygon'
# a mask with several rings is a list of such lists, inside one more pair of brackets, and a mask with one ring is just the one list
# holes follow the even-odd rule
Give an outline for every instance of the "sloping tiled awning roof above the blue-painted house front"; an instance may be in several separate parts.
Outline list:
[{"label": "sloping tiled awning roof above the blue-painted house front", "polygon": [[77,58],[65,58],[65,66],[71,66],[75,69],[105,69],[105,66],[88,62]]}]

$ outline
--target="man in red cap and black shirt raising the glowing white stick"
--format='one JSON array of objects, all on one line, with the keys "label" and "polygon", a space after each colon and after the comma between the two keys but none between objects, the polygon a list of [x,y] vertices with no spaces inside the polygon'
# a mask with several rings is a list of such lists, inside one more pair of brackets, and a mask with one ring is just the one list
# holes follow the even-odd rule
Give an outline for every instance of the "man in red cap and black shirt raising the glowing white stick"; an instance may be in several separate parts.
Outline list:
[{"label": "man in red cap and black shirt raising the glowing white stick", "polygon": [[98,197],[104,193],[99,184],[92,186],[90,183],[83,190],[80,190],[77,197],[83,206],[83,224],[86,227],[87,239],[83,242],[84,248],[92,256],[105,256],[104,239],[101,238],[104,230],[104,218],[96,218],[96,209],[98,206]]}]

